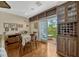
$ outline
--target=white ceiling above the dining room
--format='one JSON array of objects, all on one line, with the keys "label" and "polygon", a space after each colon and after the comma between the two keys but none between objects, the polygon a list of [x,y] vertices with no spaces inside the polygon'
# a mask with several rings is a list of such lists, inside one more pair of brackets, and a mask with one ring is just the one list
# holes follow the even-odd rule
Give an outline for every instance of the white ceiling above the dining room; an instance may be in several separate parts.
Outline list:
[{"label": "white ceiling above the dining room", "polygon": [[30,18],[66,1],[7,1],[11,9],[0,8],[0,11]]}]

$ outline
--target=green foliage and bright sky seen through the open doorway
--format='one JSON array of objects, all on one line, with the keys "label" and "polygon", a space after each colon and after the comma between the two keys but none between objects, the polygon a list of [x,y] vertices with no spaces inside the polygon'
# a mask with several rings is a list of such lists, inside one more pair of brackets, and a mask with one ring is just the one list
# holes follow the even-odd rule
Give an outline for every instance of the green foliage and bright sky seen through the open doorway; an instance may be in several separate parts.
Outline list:
[{"label": "green foliage and bright sky seen through the open doorway", "polygon": [[51,35],[53,38],[57,36],[57,21],[56,19],[49,19],[48,21],[48,35]]}]

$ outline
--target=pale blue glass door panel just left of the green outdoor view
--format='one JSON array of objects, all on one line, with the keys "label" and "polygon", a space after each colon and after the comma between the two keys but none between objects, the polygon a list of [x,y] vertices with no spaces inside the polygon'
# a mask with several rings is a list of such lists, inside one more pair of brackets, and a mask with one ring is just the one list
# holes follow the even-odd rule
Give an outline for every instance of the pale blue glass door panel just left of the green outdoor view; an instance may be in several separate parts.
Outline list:
[{"label": "pale blue glass door panel just left of the green outdoor view", "polygon": [[47,20],[46,18],[41,18],[39,21],[39,39],[41,41],[46,42],[48,39],[48,27],[47,27]]}]

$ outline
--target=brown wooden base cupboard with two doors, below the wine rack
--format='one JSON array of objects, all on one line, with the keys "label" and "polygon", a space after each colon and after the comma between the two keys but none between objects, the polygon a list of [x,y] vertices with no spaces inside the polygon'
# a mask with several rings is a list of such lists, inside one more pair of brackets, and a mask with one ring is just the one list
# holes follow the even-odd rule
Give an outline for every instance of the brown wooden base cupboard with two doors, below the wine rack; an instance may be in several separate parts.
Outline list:
[{"label": "brown wooden base cupboard with two doors, below the wine rack", "polygon": [[62,56],[77,56],[77,40],[75,37],[58,37],[57,52]]}]

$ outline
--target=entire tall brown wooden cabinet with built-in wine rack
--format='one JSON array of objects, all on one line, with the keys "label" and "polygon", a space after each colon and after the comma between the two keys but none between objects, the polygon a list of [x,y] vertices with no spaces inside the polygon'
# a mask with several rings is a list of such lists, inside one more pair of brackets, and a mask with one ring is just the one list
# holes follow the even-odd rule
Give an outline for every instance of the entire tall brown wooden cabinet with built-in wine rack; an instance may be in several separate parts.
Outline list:
[{"label": "entire tall brown wooden cabinet with built-in wine rack", "polygon": [[[79,2],[66,2],[57,7],[57,53],[62,56],[79,56]],[[63,21],[62,21],[63,20]]]}]

